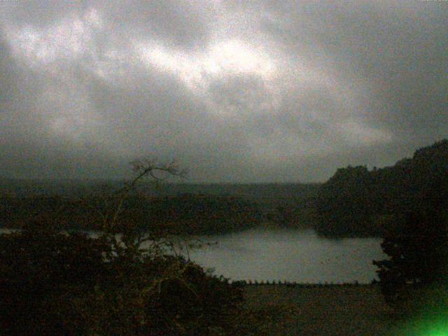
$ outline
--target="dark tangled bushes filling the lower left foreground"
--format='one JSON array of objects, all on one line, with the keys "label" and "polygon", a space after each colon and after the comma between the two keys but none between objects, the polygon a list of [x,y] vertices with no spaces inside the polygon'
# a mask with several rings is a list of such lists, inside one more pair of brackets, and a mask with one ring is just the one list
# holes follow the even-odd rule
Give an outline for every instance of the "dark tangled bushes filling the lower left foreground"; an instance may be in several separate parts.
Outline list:
[{"label": "dark tangled bushes filling the lower left foreground", "polygon": [[123,240],[36,227],[0,235],[1,335],[235,332],[239,288]]}]

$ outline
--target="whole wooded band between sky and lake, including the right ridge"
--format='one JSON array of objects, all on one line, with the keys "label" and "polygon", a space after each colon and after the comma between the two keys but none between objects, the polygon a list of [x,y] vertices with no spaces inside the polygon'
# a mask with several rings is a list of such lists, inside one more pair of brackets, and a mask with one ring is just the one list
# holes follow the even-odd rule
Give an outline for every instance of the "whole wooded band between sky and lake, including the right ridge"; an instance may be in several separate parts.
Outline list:
[{"label": "whole wooded band between sky and lake, including the right ridge", "polygon": [[[110,191],[119,185],[106,180],[0,179],[0,225],[20,228],[35,214],[57,212],[59,227],[101,230],[107,199],[86,197],[87,190]],[[337,169],[322,184],[167,183],[154,188],[142,183],[141,191],[127,197],[120,218],[142,230],[214,235],[269,221],[286,228],[314,228],[326,237],[384,237],[400,228],[409,212],[430,212],[447,204],[448,140],[420,148],[391,167]]]}]

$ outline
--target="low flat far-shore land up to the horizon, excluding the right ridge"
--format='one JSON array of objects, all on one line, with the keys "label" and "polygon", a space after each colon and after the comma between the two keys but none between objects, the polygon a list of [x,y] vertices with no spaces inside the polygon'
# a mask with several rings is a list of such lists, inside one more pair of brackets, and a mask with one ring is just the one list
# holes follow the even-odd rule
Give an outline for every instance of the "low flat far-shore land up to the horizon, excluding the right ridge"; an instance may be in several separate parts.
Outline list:
[{"label": "low flat far-shore land up to the horizon, excluding the right ridge", "polygon": [[[110,195],[123,187],[124,183],[110,180],[0,179],[0,195],[3,196],[0,202],[0,225],[17,228],[35,214],[51,214],[64,205],[72,210],[63,216],[59,215],[59,221],[63,217],[65,223],[76,222],[76,227],[96,228],[94,223],[97,218],[90,214],[92,210],[83,209],[78,201],[87,198],[100,204],[102,196]],[[164,221],[177,223],[178,227],[183,227],[183,232],[196,234],[244,230],[266,220],[297,227],[298,217],[302,218],[301,223],[309,223],[306,211],[300,211],[307,208],[305,204],[316,196],[317,191],[318,184],[155,185],[144,181],[138,186],[138,194],[127,202],[127,216],[139,223],[151,221],[162,226],[165,225],[162,223]],[[146,200],[139,199],[141,195],[145,195]],[[70,227],[71,224],[65,226]]]}]

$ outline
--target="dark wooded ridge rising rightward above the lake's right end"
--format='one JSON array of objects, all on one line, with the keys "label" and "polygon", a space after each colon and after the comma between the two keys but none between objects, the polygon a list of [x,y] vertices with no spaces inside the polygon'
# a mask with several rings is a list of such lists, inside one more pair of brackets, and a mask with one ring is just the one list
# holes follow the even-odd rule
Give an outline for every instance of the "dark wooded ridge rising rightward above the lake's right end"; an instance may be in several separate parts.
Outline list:
[{"label": "dark wooded ridge rising rightward above the lake's right end", "polygon": [[448,204],[448,140],[418,149],[392,167],[338,169],[316,197],[316,230],[330,236],[381,236],[409,211]]}]

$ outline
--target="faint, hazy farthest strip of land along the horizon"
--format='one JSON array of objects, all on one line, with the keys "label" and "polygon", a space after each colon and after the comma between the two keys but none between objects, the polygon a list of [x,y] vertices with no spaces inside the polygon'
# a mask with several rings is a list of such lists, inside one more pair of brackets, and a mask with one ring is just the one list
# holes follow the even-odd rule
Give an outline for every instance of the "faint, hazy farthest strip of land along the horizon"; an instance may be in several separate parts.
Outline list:
[{"label": "faint, hazy farthest strip of land along the horizon", "polygon": [[[118,190],[125,181],[117,180],[27,180],[0,177],[0,195],[17,197],[29,195],[78,197]],[[139,190],[151,197],[183,194],[239,197],[255,202],[264,211],[272,211],[281,204],[293,204],[314,197],[318,183],[154,183],[144,181]]]}]

